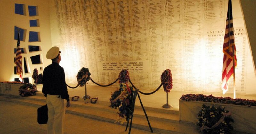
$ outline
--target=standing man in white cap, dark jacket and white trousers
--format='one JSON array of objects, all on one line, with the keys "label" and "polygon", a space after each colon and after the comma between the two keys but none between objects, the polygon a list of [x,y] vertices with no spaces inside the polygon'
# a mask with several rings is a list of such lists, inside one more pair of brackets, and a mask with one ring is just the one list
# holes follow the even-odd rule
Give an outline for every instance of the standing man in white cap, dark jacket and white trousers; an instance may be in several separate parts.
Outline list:
[{"label": "standing man in white cap, dark jacket and white trousers", "polygon": [[47,52],[46,58],[51,59],[52,64],[45,67],[42,77],[42,92],[46,96],[48,106],[48,134],[63,134],[66,101],[66,107],[70,106],[64,69],[59,65],[60,53],[59,47],[52,47]]}]

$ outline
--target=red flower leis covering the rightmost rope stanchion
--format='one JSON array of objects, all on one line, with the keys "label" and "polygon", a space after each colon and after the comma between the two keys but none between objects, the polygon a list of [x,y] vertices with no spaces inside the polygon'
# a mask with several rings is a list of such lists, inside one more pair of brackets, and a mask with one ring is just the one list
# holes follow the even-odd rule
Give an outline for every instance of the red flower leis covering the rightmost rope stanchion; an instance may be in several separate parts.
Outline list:
[{"label": "red flower leis covering the rightmost rope stanchion", "polygon": [[166,69],[161,75],[161,82],[166,93],[170,92],[172,89],[172,73],[171,70]]}]

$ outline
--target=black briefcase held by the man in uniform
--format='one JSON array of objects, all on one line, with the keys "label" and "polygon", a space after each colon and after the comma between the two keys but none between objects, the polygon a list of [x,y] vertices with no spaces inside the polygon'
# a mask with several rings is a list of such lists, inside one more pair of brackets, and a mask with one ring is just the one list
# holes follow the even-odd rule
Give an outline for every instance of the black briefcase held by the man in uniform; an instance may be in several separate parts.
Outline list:
[{"label": "black briefcase held by the man in uniform", "polygon": [[37,122],[39,124],[47,124],[47,121],[48,121],[48,107],[47,105],[44,105],[37,109]]}]

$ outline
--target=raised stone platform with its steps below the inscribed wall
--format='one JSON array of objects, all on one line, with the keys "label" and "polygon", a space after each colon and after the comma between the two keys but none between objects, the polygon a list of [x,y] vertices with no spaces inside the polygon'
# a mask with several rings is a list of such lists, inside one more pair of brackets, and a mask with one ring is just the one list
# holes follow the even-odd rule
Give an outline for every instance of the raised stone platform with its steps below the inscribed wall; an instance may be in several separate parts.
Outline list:
[{"label": "raised stone platform with its steps below the inscribed wall", "polygon": [[[72,85],[75,86],[75,85]],[[10,101],[23,105],[40,107],[46,104],[46,98],[42,94],[42,85],[38,85],[35,96],[20,97],[11,94],[0,95],[0,101]],[[160,89],[161,90],[161,89]],[[162,108],[166,103],[166,93],[164,91],[157,91],[153,95],[141,95],[143,106],[147,112],[149,122],[155,133],[200,133],[199,127],[192,122],[179,121],[179,99],[185,92],[172,92],[169,95],[169,103],[174,107],[171,109]],[[96,104],[89,102],[89,99],[84,101],[84,87],[76,89],[68,88],[70,99],[73,96],[80,96],[78,101],[71,101],[71,106],[67,108],[66,113],[78,115],[81,117],[91,118],[103,122],[114,123],[119,118],[115,109],[109,107],[109,98],[113,88],[91,87],[87,86],[87,94],[91,97],[98,97],[99,100]],[[18,91],[17,91],[18,92]],[[148,91],[150,92],[150,91]],[[254,96],[251,96],[253,99]],[[176,102],[177,101],[177,102]],[[89,102],[89,103],[87,103]],[[176,104],[177,103],[177,104]],[[123,124],[126,126],[126,122]],[[146,130],[150,132],[147,119],[144,115],[142,107],[140,106],[139,99],[136,99],[132,127]],[[128,130],[127,130],[128,131]],[[132,132],[132,131],[131,131]],[[239,132],[243,133],[243,132]]]}]

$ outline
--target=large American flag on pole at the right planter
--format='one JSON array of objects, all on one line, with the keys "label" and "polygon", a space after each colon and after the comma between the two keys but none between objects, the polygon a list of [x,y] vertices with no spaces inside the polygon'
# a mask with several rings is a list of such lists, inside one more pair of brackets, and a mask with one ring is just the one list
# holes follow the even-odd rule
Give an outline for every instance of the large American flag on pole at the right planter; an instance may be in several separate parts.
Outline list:
[{"label": "large American flag on pole at the right planter", "polygon": [[234,67],[236,67],[237,65],[231,0],[228,1],[228,13],[226,20],[226,32],[224,36],[223,53],[224,57],[222,68],[222,90],[223,94],[225,94],[228,91],[229,78],[235,73]]}]

